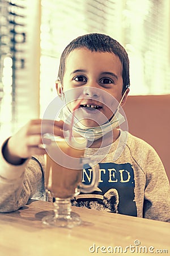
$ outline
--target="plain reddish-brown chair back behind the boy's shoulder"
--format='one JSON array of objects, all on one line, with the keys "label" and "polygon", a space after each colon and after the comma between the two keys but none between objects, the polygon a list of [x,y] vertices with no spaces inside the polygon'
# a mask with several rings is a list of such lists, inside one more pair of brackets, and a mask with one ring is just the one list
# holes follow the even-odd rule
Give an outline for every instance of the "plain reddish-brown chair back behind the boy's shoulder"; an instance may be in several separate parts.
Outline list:
[{"label": "plain reddish-brown chair back behind the boy's shoulder", "polygon": [[155,148],[170,180],[170,94],[128,96],[124,111],[129,132]]}]

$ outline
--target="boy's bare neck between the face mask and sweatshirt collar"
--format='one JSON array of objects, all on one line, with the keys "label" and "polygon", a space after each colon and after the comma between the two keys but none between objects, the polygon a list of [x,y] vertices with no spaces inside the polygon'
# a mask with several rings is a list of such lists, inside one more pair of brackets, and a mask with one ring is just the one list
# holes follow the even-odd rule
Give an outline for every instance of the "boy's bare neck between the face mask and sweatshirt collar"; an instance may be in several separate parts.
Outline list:
[{"label": "boy's bare neck between the face mask and sweatshirt collar", "polygon": [[100,148],[101,147],[101,143],[103,144],[103,147],[108,146],[109,144],[115,142],[118,137],[120,137],[120,130],[118,129],[113,129],[113,137],[111,138],[110,134],[105,134],[104,137],[97,139],[96,141],[94,141],[90,148]]}]

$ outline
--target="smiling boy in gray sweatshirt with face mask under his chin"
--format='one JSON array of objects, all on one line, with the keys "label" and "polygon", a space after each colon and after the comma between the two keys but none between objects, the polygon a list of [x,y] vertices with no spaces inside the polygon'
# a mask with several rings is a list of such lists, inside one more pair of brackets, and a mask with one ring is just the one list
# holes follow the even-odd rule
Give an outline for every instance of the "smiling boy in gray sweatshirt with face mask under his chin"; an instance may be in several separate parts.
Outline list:
[{"label": "smiling boy in gray sweatshirt with face mask under his chin", "polygon": [[[79,113],[84,133],[99,126],[94,115],[104,115],[111,126],[114,110],[107,107],[105,94],[125,104],[129,93],[129,59],[125,49],[116,40],[103,34],[89,34],[73,40],[63,51],[56,82],[58,95],[67,101],[67,91],[73,89],[79,103]],[[76,88],[76,89],[75,89]],[[79,89],[80,88],[80,89]],[[103,92],[103,93],[101,93]],[[103,96],[104,95],[104,96]],[[75,97],[76,98],[76,97]],[[77,100],[68,105],[73,112]],[[114,105],[114,104],[113,104]],[[95,112],[94,112],[95,109]],[[94,114],[95,113],[95,114]],[[63,113],[65,116],[65,113]],[[100,119],[100,118],[99,118]],[[131,216],[169,221],[169,184],[162,162],[155,150],[127,131],[112,126],[113,137],[105,134],[105,144],[111,144],[107,155],[100,162],[99,188],[91,195],[79,195],[73,205]],[[48,122],[45,131],[50,129]],[[76,132],[82,131],[77,127]],[[54,134],[63,136],[63,122],[54,122]],[[99,133],[100,134],[100,133]],[[128,139],[127,139],[128,135]],[[94,137],[86,155],[101,147],[103,137]],[[125,138],[120,149],[120,138]],[[44,193],[45,150],[41,144],[41,120],[33,120],[2,146],[1,164],[1,212],[16,210],[27,203],[35,193]],[[17,146],[16,146],[17,145]],[[32,155],[40,155],[32,157]],[[87,170],[88,171],[88,170]],[[84,181],[87,182],[84,176]]]}]

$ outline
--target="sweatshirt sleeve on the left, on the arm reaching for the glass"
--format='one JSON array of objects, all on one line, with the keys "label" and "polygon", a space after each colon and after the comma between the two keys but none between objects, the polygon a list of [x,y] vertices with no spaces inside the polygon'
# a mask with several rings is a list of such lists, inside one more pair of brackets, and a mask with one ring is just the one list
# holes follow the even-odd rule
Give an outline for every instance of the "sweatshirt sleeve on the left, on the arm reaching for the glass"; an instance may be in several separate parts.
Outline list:
[{"label": "sweatshirt sleeve on the left, on the arm reaching for the glass", "polygon": [[41,197],[44,193],[43,156],[14,166],[3,157],[3,144],[0,148],[0,212],[11,212],[27,204],[33,195]]}]

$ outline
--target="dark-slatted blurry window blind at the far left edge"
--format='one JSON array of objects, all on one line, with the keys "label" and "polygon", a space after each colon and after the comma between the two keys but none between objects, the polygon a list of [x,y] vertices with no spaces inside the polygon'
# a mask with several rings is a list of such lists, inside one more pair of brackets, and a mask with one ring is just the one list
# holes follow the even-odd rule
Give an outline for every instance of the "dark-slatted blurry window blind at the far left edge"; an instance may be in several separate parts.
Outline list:
[{"label": "dark-slatted blurry window blind at the far left edge", "polygon": [[[24,68],[24,1],[0,2],[0,124],[3,133],[12,131],[17,118],[17,83],[19,69]],[[23,88],[24,89],[24,88]]]}]

